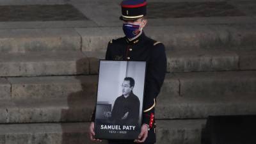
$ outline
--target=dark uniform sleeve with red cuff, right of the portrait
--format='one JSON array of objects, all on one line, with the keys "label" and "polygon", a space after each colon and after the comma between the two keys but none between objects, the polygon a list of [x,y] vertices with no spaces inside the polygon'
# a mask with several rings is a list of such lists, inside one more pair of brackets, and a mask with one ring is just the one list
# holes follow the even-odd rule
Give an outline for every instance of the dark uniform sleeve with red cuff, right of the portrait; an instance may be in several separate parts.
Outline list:
[{"label": "dark uniform sleeve with red cuff, right of the portrait", "polygon": [[148,124],[150,128],[154,124],[156,97],[161,90],[166,74],[166,54],[164,45],[161,43],[154,45],[151,54],[150,61],[147,63],[142,119],[143,124]]}]

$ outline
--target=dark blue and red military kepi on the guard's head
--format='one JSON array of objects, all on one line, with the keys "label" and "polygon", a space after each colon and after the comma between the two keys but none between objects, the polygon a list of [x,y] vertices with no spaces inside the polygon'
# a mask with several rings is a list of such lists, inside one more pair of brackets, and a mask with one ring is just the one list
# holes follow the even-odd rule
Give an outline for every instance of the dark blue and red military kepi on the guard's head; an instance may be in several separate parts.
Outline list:
[{"label": "dark blue and red military kepi on the guard's head", "polygon": [[121,6],[120,20],[136,20],[147,14],[147,1],[145,0],[124,0]]}]

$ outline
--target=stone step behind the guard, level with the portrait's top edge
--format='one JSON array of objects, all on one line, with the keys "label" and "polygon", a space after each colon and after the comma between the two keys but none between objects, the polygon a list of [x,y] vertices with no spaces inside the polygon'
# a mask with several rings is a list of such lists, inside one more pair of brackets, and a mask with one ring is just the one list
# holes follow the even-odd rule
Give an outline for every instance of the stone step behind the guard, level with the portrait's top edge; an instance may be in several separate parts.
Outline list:
[{"label": "stone step behind the guard, level with the portrait's top edge", "polygon": [[[0,54],[0,76],[65,76],[98,74],[104,52],[15,52]],[[256,51],[166,51],[167,72],[256,70]]]}]

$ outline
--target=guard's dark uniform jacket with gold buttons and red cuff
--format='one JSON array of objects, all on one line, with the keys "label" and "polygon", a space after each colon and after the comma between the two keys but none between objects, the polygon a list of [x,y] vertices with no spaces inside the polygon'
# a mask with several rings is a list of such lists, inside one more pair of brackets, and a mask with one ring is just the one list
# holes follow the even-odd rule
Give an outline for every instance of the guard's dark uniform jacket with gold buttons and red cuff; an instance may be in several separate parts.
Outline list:
[{"label": "guard's dark uniform jacket with gold buttons and red cuff", "polygon": [[[126,37],[108,43],[106,60],[147,61],[142,124],[150,125],[145,143],[155,143],[155,106],[166,74],[166,54],[164,45],[148,38],[145,33],[135,40]],[[95,115],[95,114],[94,114]],[[92,116],[92,121],[94,117]]]}]

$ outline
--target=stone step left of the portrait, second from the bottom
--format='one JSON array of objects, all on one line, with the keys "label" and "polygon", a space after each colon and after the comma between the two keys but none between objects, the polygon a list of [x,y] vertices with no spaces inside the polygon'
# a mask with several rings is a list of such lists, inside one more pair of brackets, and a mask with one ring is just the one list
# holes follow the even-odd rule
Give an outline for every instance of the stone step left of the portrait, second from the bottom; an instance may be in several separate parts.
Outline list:
[{"label": "stone step left of the portrait, second from the bottom", "polygon": [[1,100],[0,123],[90,121],[95,98]]}]

